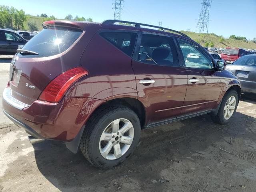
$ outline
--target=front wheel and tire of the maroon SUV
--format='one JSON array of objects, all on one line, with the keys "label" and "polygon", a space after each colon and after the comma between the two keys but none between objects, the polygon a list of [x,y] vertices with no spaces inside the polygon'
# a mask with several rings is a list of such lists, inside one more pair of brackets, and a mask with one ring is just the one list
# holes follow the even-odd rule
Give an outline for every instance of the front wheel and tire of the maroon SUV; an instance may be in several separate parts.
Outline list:
[{"label": "front wheel and tire of the maroon SUV", "polygon": [[221,125],[229,123],[234,118],[238,101],[239,98],[237,92],[235,90],[228,91],[222,99],[218,114],[214,117],[214,121]]}]

